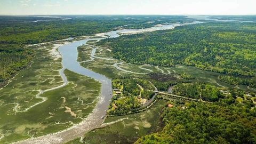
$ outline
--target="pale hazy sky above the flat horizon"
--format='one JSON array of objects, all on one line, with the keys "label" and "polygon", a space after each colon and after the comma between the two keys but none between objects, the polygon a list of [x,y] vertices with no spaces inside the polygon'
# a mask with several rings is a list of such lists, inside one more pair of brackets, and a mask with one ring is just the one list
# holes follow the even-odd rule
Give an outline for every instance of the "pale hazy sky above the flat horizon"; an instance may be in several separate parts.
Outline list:
[{"label": "pale hazy sky above the flat horizon", "polygon": [[0,0],[0,14],[256,14],[256,0]]}]

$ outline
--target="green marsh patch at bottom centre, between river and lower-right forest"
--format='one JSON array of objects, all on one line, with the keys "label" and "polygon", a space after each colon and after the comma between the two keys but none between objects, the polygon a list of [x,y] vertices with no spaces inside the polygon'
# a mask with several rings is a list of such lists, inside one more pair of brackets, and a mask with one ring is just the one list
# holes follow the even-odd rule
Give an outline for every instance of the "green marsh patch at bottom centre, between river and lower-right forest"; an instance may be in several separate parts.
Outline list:
[{"label": "green marsh patch at bottom centre, between river and lower-right forest", "polygon": [[165,106],[164,100],[159,100],[149,110],[138,114],[109,117],[105,124],[118,121],[114,124],[95,129],[68,143],[133,143],[142,135],[162,130],[160,114]]}]

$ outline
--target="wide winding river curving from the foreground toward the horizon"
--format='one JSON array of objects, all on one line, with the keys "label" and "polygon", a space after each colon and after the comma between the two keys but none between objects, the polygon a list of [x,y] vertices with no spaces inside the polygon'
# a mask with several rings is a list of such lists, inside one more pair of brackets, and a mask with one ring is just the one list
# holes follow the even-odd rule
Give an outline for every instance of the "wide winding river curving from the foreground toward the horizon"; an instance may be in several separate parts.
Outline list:
[{"label": "wide winding river curving from the foreground toward the horizon", "polygon": [[[122,29],[122,30],[109,31],[107,33],[102,33],[102,36],[107,35],[111,38],[115,38],[115,37],[118,37],[119,34],[138,34],[138,33],[144,33],[147,31],[173,29],[174,27],[183,26],[183,25],[192,25],[196,23],[202,23],[202,22],[195,21],[195,22],[189,22],[189,23],[172,23],[168,25],[167,24],[158,25],[158,26],[146,28],[146,29]],[[92,70],[82,67],[80,63],[77,61],[77,56],[78,56],[77,47],[83,44],[86,44],[88,41],[95,41],[95,40],[100,41],[101,39],[104,39],[104,38],[106,37],[88,38],[88,39],[83,39],[81,41],[75,41],[59,47],[59,52],[62,55],[62,66],[63,66],[63,68],[60,70],[60,75],[63,81],[67,81],[66,76],[63,73],[63,70],[69,69],[71,71],[74,71],[77,74],[94,78],[95,80],[99,81],[102,84],[99,101],[97,103],[97,106],[93,109],[92,113],[89,116],[87,116],[83,122],[77,125],[74,125],[67,130],[64,130],[58,133],[44,135],[42,137],[20,141],[17,143],[64,143],[78,137],[83,137],[84,133],[91,131],[93,129],[96,129],[98,127],[101,127],[101,124],[103,123],[103,120],[104,120],[102,119],[102,116],[106,115],[106,110],[108,109],[108,106],[111,100],[111,79],[101,74],[95,73]]]}]

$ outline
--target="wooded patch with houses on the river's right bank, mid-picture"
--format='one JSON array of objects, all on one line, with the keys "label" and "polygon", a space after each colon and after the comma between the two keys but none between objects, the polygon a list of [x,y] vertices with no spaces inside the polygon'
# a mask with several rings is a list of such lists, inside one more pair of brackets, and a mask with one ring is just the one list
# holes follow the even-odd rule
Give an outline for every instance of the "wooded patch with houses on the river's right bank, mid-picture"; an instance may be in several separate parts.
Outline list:
[{"label": "wooded patch with houses on the river's right bank, mid-picture", "polygon": [[[138,86],[138,84],[143,88]],[[146,79],[140,78],[116,78],[112,80],[113,89],[121,94],[113,95],[109,106],[108,114],[126,114],[137,110],[141,105],[141,98],[150,99],[153,97],[154,86]],[[140,95],[141,94],[141,95]]]}]

